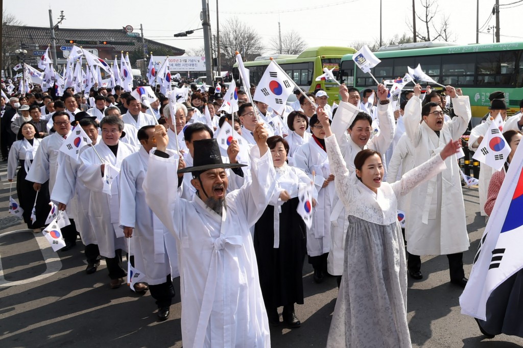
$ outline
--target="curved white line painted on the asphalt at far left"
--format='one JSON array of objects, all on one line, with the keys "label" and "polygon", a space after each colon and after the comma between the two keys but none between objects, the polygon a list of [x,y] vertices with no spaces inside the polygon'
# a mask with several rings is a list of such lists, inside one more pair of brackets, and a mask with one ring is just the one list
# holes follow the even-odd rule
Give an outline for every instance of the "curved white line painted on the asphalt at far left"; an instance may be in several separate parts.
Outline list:
[{"label": "curved white line painted on the asphalt at far left", "polygon": [[[28,233],[28,230],[19,229],[16,231],[6,232],[6,233],[1,234],[0,238],[13,234],[13,233],[18,233],[18,232]],[[39,233],[38,235],[35,235],[35,237],[36,237],[36,241],[38,242],[38,246],[40,247],[40,250],[42,252],[42,257],[46,261],[46,266],[47,266],[46,271],[40,275],[31,277],[28,279],[19,280],[19,281],[15,281],[15,282],[7,281],[4,278],[4,269],[2,268],[2,255],[0,255],[0,286],[14,286],[14,285],[22,285],[22,284],[36,282],[36,281],[42,280],[44,278],[47,278],[55,273],[58,273],[58,271],[60,271],[62,269],[62,261],[60,260],[60,257],[58,256],[58,254],[55,251],[53,251],[53,249],[49,245],[49,242],[47,241],[46,237],[44,237],[41,233]]]}]

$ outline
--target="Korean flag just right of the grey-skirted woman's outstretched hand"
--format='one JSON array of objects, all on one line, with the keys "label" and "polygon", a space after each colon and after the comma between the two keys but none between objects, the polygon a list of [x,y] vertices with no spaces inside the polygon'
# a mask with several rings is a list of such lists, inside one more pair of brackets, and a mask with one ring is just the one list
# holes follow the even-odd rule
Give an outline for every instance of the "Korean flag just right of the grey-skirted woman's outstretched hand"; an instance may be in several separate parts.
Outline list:
[{"label": "Korean flag just right of the grey-skirted woman's outstretched hand", "polygon": [[492,121],[472,158],[496,170],[500,170],[503,168],[508,155],[510,155],[510,147],[496,122]]}]

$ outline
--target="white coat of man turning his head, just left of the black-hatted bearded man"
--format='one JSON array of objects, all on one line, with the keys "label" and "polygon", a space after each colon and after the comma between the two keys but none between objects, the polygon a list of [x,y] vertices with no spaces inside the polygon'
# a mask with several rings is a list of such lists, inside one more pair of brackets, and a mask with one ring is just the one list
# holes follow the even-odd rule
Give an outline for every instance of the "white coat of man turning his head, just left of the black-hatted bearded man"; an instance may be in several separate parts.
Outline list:
[{"label": "white coat of man turning his head, just left of the black-hatted bearded man", "polygon": [[[145,273],[149,285],[165,283],[168,274],[179,276],[176,240],[145,202],[142,185],[147,173],[149,154],[143,147],[123,159],[120,169],[120,227],[132,227],[134,246],[142,259],[135,267]],[[178,177],[167,185],[177,187]],[[136,250],[136,249],[134,249]],[[141,266],[143,265],[143,267]]]}]

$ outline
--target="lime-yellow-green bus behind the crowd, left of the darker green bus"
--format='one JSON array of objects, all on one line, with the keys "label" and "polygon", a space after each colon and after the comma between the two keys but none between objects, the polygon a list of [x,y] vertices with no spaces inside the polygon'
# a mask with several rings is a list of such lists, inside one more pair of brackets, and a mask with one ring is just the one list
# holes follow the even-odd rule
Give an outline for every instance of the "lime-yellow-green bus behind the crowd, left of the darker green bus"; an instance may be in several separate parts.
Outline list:
[{"label": "lime-yellow-green bus behind the crowd, left of the darker green bus", "polygon": [[[332,105],[338,100],[338,84],[333,80],[315,79],[323,74],[324,67],[334,68],[333,74],[336,76],[342,57],[355,52],[356,50],[350,47],[321,46],[306,49],[299,55],[274,55],[272,58],[306,92],[314,92],[316,88],[325,90],[329,96],[328,102]],[[250,71],[251,83],[258,85],[269,63],[270,56],[256,57],[254,61],[244,63]],[[235,80],[240,79],[237,63],[233,66],[232,74]]]}]

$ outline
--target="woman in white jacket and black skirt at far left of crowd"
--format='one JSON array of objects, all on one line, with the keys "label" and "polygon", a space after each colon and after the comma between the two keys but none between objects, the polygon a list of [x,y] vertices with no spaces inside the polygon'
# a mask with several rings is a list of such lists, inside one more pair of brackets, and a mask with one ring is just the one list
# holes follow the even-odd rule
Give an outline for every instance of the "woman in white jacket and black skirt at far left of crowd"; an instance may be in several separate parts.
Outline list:
[{"label": "woman in white jacket and black skirt at far left of crowd", "polygon": [[16,192],[20,207],[24,210],[22,216],[28,229],[32,229],[34,233],[39,233],[41,227],[45,225],[47,215],[49,214],[50,198],[49,198],[49,182],[42,184],[38,192],[38,199],[36,201],[36,221],[31,221],[31,212],[35,206],[35,199],[37,192],[33,189],[33,183],[26,180],[27,172],[31,167],[33,158],[35,158],[36,150],[40,146],[40,135],[38,134],[35,125],[31,122],[24,122],[21,124],[17,141],[13,143],[9,151],[9,161],[7,164],[7,180],[13,182],[15,177],[16,167],[20,164],[20,169],[16,175]]}]

